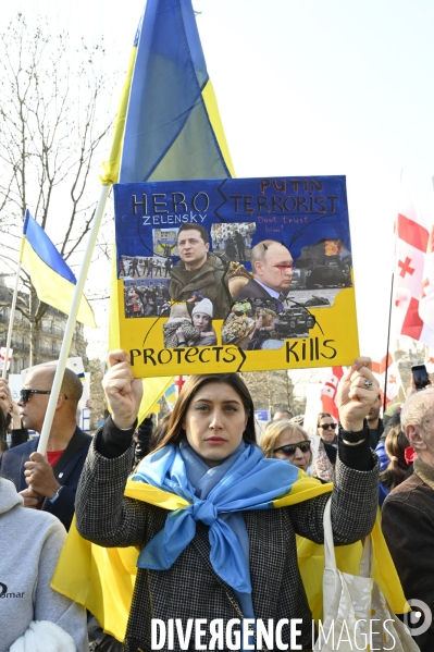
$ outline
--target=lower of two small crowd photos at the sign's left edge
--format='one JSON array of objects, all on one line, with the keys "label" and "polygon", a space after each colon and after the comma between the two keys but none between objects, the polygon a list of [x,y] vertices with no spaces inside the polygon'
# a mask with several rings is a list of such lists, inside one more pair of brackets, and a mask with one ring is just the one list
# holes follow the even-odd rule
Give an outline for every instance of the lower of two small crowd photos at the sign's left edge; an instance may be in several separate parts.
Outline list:
[{"label": "lower of two small crowd photos at the sign's left edge", "polygon": [[169,281],[126,280],[124,283],[125,317],[169,317],[171,300]]}]

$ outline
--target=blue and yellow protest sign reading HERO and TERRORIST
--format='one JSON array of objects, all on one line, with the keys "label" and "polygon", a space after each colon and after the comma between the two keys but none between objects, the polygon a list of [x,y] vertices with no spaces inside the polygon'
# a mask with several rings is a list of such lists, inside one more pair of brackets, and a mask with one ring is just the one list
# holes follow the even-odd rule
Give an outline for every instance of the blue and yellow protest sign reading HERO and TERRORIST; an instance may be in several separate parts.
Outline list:
[{"label": "blue and yellow protest sign reading HERO and TERRORIST", "polygon": [[117,184],[114,208],[136,377],[358,356],[344,176]]}]

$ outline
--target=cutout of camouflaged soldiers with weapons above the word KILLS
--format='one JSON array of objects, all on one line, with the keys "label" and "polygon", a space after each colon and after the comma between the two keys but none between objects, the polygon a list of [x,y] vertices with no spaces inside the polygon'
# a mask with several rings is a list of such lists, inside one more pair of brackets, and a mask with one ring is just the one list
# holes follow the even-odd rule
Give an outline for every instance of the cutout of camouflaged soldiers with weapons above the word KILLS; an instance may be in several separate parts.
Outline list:
[{"label": "cutout of camouflaged soldiers with weapons above the word KILLS", "polygon": [[282,348],[283,340],[308,337],[315,318],[302,306],[285,308],[276,298],[235,303],[222,327],[222,344],[245,350]]}]

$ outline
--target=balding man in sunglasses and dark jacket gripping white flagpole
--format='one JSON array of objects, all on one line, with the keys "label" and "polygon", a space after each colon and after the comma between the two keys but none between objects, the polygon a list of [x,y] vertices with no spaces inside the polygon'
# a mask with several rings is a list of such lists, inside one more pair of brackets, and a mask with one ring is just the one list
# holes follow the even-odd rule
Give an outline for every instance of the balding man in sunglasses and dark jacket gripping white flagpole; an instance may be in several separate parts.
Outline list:
[{"label": "balding man in sunglasses and dark jacket gripping white flagpole", "polygon": [[[55,366],[35,367],[27,373],[20,393],[20,417],[28,430],[40,432],[47,411]],[[83,384],[65,369],[47,446],[47,456],[37,453],[39,438],[7,451],[0,470],[15,483],[26,507],[51,512],[66,530],[74,516],[75,492],[91,436],[76,426]]]}]

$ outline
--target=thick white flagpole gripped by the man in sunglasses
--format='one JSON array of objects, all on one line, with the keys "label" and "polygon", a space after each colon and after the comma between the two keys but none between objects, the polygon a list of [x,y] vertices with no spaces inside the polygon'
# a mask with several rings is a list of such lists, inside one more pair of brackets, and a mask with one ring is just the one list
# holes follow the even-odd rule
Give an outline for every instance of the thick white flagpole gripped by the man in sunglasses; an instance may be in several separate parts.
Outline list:
[{"label": "thick white flagpole gripped by the man in sunglasses", "polygon": [[98,200],[97,210],[95,212],[94,222],[90,229],[89,238],[86,245],[85,256],[80,266],[79,275],[77,279],[77,284],[75,286],[74,298],[71,306],[71,311],[67,318],[65,332],[63,335],[62,347],[60,349],[60,356],[58,366],[55,369],[54,380],[51,387],[50,399],[47,406],[47,413],[44,419],[42,430],[40,432],[39,442],[38,442],[38,453],[42,455],[46,454],[48,439],[51,432],[51,426],[54,418],[55,406],[58,403],[58,397],[60,394],[60,390],[62,386],[63,374],[66,368],[67,357],[70,355],[70,348],[72,339],[74,335],[75,322],[77,320],[79,304],[82,302],[83,292],[85,288],[85,283],[87,279],[87,273],[90,266],[90,259],[92,257],[92,253],[95,249],[95,243],[97,242],[98,232],[101,225],[102,216],[104,214],[107,198],[110,193],[111,185],[103,185],[101,187],[101,193]]}]

